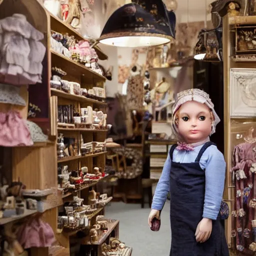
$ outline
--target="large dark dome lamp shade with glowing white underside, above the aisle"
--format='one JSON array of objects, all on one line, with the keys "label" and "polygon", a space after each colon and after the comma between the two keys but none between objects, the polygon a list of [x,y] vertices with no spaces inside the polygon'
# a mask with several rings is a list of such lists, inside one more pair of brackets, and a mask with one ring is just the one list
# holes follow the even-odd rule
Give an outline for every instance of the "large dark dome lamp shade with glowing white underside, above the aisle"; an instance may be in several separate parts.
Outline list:
[{"label": "large dark dome lamp shade with glowing white underside, above the aisle", "polygon": [[123,47],[144,47],[170,42],[175,35],[175,14],[167,11],[161,0],[156,1],[157,4],[150,6],[128,3],[115,10],[108,18],[98,41]]}]

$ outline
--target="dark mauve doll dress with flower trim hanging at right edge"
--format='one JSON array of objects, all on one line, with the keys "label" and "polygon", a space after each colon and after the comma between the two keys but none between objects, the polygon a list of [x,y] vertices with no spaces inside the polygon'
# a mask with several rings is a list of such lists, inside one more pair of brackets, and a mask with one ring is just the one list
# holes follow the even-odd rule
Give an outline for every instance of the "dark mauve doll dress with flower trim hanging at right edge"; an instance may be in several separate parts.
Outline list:
[{"label": "dark mauve doll dress with flower trim hanging at right edge", "polygon": [[256,226],[252,225],[256,213],[256,143],[236,145],[232,158],[233,167],[230,171],[236,198],[232,211],[231,236],[238,251],[251,253],[256,235]]}]

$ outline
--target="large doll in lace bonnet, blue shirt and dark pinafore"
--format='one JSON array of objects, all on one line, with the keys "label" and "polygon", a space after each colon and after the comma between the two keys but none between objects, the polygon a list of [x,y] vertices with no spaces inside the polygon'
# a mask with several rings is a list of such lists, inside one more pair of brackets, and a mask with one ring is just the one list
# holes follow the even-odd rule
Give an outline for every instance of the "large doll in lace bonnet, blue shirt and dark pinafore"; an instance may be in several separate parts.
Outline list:
[{"label": "large doll in lace bonnet, blue shirt and dark pinafore", "polygon": [[209,140],[220,121],[213,107],[200,89],[179,92],[173,105],[179,142],[170,148],[148,216],[151,226],[170,192],[170,256],[229,255],[218,214],[226,164]]}]

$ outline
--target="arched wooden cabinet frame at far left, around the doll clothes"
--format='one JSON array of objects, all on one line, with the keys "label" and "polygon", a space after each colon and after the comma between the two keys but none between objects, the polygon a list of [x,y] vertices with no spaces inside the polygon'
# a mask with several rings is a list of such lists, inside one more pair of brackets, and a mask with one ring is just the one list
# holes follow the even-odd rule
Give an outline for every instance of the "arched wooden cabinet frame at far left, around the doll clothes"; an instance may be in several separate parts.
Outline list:
[{"label": "arched wooden cabinet frame at far left, around the doll clothes", "polygon": [[[48,131],[49,139],[44,142],[34,142],[32,146],[17,146],[1,148],[3,154],[1,161],[3,162],[1,172],[7,178],[8,184],[11,181],[20,180],[26,185],[26,189],[47,189],[53,188],[54,193],[47,196],[46,208],[43,213],[37,213],[37,210],[25,209],[24,213],[9,218],[1,218],[0,225],[8,225],[19,221],[22,218],[31,219],[34,215],[41,216],[42,219],[49,223],[53,231],[57,228],[57,207],[62,204],[62,198],[57,193],[57,159],[55,140],[51,139],[50,132],[50,108],[49,108],[49,73],[50,73],[50,48],[49,48],[49,15],[43,6],[37,0],[0,0],[0,19],[11,16],[14,13],[25,15],[27,21],[37,30],[44,34],[42,44],[46,48],[46,54],[42,61],[42,83],[33,85],[21,85],[20,95],[24,98],[26,105],[23,107],[0,104],[0,111],[5,112],[6,109],[16,110],[23,119],[27,119],[28,104],[33,90],[36,91],[37,97],[34,102],[41,101],[38,106],[43,109],[43,113],[31,119],[37,123],[45,133]],[[37,104],[37,103],[36,103]],[[2,174],[1,173],[1,174]],[[31,248],[30,255],[46,256],[48,255],[48,247]]]}]

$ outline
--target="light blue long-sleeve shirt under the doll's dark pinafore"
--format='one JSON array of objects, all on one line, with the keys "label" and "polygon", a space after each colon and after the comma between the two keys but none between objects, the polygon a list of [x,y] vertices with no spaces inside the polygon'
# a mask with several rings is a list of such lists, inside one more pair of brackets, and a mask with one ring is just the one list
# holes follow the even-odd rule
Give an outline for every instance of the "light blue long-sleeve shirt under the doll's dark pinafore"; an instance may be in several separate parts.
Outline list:
[{"label": "light blue long-sleeve shirt under the doll's dark pinafore", "polygon": [[[174,149],[173,162],[194,162],[201,147],[195,146],[192,151]],[[226,163],[223,154],[215,145],[210,145],[201,156],[200,167],[205,171],[205,194],[202,217],[216,219],[223,196]],[[163,165],[160,179],[157,183],[151,208],[161,210],[169,192],[169,176],[171,159],[168,153]],[[171,194],[170,194],[171,197]]]}]

